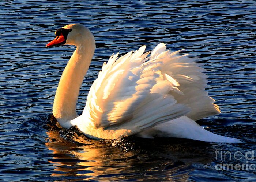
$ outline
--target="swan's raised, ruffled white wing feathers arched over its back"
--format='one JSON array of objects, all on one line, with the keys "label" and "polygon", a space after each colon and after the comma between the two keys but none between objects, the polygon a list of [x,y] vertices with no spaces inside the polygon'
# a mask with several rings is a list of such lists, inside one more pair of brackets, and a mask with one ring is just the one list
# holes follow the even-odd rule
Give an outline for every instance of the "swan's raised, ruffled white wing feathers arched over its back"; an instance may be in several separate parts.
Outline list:
[{"label": "swan's raised, ruffled white wing feathers arched over its back", "polygon": [[[201,113],[202,108],[197,103],[204,103],[204,111],[210,104],[208,115],[217,113],[217,105],[204,91],[202,68],[186,55],[165,51],[162,43],[149,57],[149,53],[143,54],[145,48],[119,59],[117,53],[103,64],[83,111],[90,120],[87,122],[95,128],[125,128],[136,133],[183,115],[195,118],[195,112]],[[199,118],[203,115],[206,114],[199,114]]]}]

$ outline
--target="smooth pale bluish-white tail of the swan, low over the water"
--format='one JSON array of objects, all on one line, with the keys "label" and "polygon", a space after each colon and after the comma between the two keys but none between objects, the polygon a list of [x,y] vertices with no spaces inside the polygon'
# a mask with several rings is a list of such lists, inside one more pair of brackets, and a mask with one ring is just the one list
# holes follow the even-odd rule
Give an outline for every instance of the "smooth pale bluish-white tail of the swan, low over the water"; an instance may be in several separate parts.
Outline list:
[{"label": "smooth pale bluish-white tail of the swan, low over the water", "polygon": [[199,140],[205,142],[241,143],[239,139],[225,137],[207,131],[192,119],[182,116],[181,118],[159,124],[150,130],[143,131],[140,137],[176,137]]}]

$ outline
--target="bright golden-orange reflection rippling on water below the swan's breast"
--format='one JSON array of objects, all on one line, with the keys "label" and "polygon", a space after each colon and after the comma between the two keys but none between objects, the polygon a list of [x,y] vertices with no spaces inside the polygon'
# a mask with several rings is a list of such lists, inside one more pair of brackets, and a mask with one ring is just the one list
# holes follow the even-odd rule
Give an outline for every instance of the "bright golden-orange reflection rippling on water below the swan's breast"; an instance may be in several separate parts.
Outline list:
[{"label": "bright golden-orange reflection rippling on water below the swan's breast", "polygon": [[117,154],[121,154],[123,160],[133,155],[132,152],[121,152],[120,149],[112,147],[111,143],[108,142],[104,144],[98,141],[84,140],[86,142],[84,145],[77,145],[61,138],[58,131],[48,131],[47,134],[48,141],[51,142],[47,142],[45,145],[55,154],[53,160],[49,160],[56,166],[54,169],[56,173],[53,173],[52,176],[84,175],[96,177],[122,173],[123,168],[127,165],[120,164],[122,159]]}]

